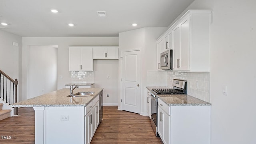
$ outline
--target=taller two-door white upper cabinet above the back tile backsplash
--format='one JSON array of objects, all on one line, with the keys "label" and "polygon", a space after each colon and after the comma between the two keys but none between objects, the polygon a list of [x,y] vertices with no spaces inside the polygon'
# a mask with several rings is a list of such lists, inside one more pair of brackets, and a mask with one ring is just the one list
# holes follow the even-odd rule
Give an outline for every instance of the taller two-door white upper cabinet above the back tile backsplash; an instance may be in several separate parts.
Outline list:
[{"label": "taller two-door white upper cabinet above the back tile backsplash", "polygon": [[92,47],[69,47],[69,71],[93,71]]}]

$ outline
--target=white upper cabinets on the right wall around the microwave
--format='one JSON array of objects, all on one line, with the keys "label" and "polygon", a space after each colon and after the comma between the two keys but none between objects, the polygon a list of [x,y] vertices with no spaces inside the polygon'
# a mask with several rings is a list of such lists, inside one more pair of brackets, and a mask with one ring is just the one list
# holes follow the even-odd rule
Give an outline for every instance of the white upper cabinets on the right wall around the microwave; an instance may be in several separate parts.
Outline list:
[{"label": "white upper cabinets on the right wall around the microwave", "polygon": [[162,43],[158,55],[173,49],[174,71],[210,72],[211,12],[188,10],[158,38],[157,44]]}]

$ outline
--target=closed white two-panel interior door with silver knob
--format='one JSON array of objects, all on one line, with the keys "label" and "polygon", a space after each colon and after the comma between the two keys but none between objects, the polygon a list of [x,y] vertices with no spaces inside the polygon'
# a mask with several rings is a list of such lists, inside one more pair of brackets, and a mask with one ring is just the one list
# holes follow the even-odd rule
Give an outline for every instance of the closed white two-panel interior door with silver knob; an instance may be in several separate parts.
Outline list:
[{"label": "closed white two-panel interior door with silver knob", "polygon": [[122,110],[140,113],[140,50],[122,52]]}]

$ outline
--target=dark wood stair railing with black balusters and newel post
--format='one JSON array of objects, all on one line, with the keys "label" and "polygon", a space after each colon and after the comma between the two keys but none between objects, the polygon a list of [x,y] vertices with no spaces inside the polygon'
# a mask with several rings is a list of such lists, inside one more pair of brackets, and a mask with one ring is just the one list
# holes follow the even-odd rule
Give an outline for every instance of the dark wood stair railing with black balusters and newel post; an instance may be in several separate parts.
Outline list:
[{"label": "dark wood stair railing with black balusters and newel post", "polygon": [[[13,80],[0,70],[0,99],[7,104],[14,104],[17,102],[17,78]],[[15,89],[15,90],[14,90]],[[14,115],[18,115],[18,108],[14,107]]]}]

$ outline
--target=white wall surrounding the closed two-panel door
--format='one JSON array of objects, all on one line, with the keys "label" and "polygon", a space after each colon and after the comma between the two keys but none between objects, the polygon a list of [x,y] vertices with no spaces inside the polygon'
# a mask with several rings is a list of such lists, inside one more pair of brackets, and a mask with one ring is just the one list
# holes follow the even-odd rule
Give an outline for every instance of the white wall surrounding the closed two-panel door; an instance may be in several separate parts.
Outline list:
[{"label": "white wall surrounding the closed two-panel door", "polygon": [[[125,50],[140,49],[142,54],[142,76],[141,76],[141,99],[140,114],[146,115],[146,86],[147,71],[156,69],[156,39],[166,30],[166,28],[140,28],[127,32],[119,33],[119,52]],[[119,62],[119,82],[121,82]],[[119,94],[120,93],[119,83]],[[121,108],[120,96],[118,98],[118,109]]]}]

